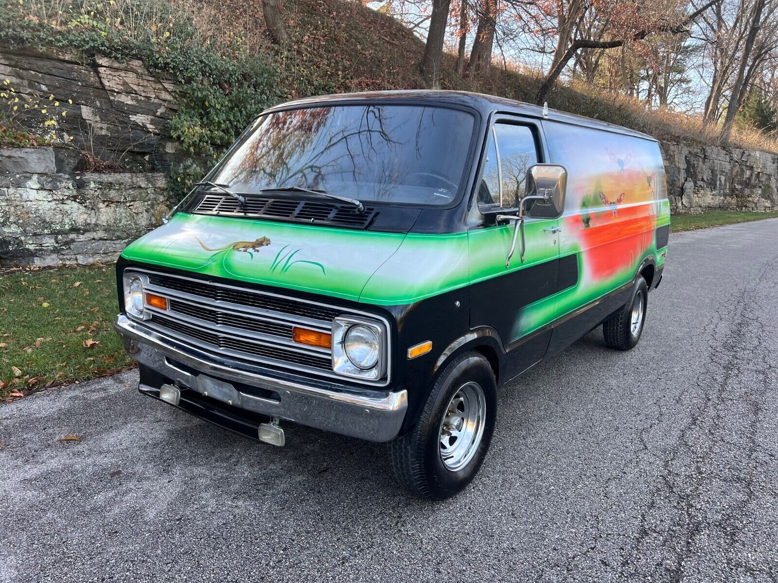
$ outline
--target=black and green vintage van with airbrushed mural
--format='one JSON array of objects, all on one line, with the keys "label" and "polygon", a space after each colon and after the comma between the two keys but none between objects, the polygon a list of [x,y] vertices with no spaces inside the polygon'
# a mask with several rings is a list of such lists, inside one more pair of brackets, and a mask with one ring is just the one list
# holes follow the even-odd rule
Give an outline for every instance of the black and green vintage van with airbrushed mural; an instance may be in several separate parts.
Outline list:
[{"label": "black and green vintage van with airbrushed mural", "polygon": [[124,250],[116,329],[141,393],[275,445],[286,421],[389,442],[445,498],[499,386],[597,326],[637,344],[669,225],[647,135],[472,93],[301,99]]}]

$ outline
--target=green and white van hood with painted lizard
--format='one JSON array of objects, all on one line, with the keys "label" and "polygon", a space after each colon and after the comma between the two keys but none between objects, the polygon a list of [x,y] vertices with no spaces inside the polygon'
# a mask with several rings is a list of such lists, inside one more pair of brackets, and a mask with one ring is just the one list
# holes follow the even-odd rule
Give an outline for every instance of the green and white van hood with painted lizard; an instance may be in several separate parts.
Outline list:
[{"label": "green and white van hood with painted lizard", "polygon": [[404,233],[177,213],[131,243],[128,260],[357,301]]}]

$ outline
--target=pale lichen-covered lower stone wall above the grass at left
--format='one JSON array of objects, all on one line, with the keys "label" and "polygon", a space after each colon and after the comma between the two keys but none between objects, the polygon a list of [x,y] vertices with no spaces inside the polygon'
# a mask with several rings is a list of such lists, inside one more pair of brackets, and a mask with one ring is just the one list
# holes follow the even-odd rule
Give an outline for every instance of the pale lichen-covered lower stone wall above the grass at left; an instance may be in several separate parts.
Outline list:
[{"label": "pale lichen-covered lower stone wall above the grass at left", "polygon": [[115,261],[173,205],[163,173],[62,173],[55,149],[0,150],[31,170],[0,173],[0,267]]}]

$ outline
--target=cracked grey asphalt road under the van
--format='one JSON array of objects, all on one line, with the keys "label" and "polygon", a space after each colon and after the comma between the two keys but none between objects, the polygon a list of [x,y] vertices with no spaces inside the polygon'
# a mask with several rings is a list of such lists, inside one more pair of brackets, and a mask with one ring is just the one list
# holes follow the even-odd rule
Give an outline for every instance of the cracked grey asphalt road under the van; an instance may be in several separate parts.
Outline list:
[{"label": "cracked grey asphalt road under the van", "polygon": [[598,330],[506,386],[450,501],[382,445],[262,445],[135,372],[4,405],[0,579],[776,581],[778,219],[670,245],[639,346]]}]

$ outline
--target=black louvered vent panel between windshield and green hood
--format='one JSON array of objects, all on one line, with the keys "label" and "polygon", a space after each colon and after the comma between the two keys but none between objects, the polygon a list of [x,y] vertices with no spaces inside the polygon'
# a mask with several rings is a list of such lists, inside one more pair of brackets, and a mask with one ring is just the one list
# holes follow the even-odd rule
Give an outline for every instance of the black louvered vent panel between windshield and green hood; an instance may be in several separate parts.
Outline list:
[{"label": "black louvered vent panel between windshield and green hood", "polygon": [[338,202],[276,198],[261,194],[245,196],[246,204],[243,209],[240,209],[238,201],[233,197],[223,194],[203,194],[190,212],[198,215],[269,218],[348,229],[366,229],[378,215],[373,207],[365,207],[365,211],[359,213],[355,208]]}]

